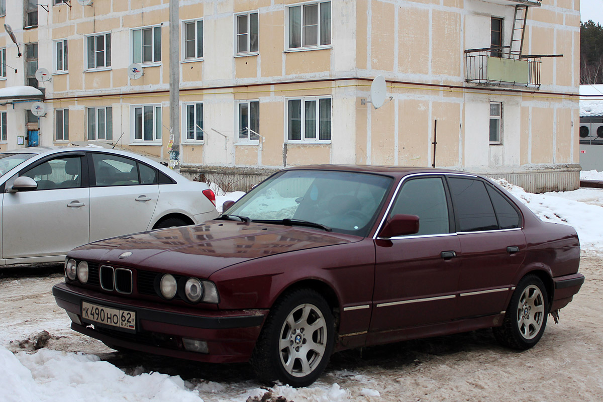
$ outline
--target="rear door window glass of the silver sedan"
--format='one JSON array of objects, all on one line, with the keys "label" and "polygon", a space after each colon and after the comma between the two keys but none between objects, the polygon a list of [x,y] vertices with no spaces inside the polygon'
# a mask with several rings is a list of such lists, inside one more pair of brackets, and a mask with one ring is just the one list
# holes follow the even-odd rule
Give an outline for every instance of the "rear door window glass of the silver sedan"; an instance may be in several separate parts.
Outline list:
[{"label": "rear door window glass of the silver sedan", "polygon": [[96,186],[139,184],[136,161],[118,155],[92,154]]}]

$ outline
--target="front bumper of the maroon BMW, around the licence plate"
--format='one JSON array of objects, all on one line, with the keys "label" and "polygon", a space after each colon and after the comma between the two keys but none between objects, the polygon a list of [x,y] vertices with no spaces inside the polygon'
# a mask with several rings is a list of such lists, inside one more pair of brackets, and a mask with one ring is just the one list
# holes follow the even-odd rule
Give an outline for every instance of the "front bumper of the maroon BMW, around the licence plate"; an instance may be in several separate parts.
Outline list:
[{"label": "front bumper of the maroon BMW, around the licence plate", "polygon": [[[188,306],[122,298],[59,283],[52,287],[59,307],[81,320],[83,301],[136,312],[136,331],[108,325],[72,322],[71,328],[107,345],[163,356],[211,363],[246,362],[251,356],[268,310],[202,310]],[[93,325],[90,325],[93,324]],[[182,338],[207,342],[209,353],[187,351]]]}]

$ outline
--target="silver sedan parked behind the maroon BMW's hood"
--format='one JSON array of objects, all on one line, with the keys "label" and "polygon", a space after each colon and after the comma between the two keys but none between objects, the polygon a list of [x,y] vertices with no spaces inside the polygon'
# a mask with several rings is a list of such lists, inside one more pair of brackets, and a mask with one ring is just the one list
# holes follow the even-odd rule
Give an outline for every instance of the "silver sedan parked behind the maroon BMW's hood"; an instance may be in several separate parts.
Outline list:
[{"label": "silver sedan parked behind the maroon BMW's hood", "polygon": [[94,240],[216,218],[207,184],[116,149],[0,152],[0,265],[59,262]]}]

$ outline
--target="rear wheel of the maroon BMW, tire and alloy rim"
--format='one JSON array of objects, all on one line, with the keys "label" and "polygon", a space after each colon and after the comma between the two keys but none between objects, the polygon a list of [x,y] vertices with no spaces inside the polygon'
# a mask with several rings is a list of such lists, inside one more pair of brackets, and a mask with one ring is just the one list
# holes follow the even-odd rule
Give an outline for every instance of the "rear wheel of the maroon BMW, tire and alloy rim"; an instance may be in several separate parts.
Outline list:
[{"label": "rear wheel of the maroon BMW, tire and alloy rim", "polygon": [[502,326],[493,328],[494,337],[506,347],[527,350],[545,332],[548,312],[545,284],[536,275],[527,275],[513,292]]}]

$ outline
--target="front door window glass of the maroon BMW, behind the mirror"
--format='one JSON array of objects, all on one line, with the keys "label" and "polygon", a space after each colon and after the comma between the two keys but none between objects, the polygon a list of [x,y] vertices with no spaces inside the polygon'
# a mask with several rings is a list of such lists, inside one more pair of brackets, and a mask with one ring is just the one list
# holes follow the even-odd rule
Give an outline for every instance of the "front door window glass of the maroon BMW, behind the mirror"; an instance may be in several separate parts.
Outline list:
[{"label": "front door window glass of the maroon BMW, behind the mirror", "polygon": [[418,233],[449,233],[448,204],[444,184],[439,177],[415,178],[404,183],[390,217],[398,213],[418,216]]}]

